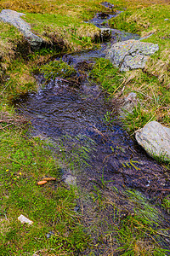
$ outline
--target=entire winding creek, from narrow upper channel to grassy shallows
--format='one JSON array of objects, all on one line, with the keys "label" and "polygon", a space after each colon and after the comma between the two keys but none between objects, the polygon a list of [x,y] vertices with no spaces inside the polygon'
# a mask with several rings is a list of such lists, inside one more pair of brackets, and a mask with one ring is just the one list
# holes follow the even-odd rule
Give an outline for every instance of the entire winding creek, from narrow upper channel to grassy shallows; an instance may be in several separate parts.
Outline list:
[{"label": "entire winding creek, from narrow upper channel to grassy shallows", "polygon": [[[89,22],[110,30],[106,21],[115,15],[97,14]],[[130,38],[139,39],[139,36],[111,29],[111,43]],[[121,191],[137,189],[153,203],[154,198],[166,195],[166,188],[169,188],[166,169],[145,154],[127,134],[114,104],[105,99],[99,84],[92,84],[88,79],[91,65],[96,58],[105,57],[106,47],[108,44],[103,43],[100,49],[59,56],[77,70],[79,86],[72,86],[70,81],[58,77],[47,82],[43,74],[39,74],[37,83],[40,89],[37,93],[21,96],[16,104],[17,112],[31,120],[31,136],[49,138],[56,145],[54,154],[60,159],[65,155],[70,162],[69,167],[63,168],[65,179],[69,177],[73,183],[77,180],[77,186],[86,193],[90,193],[94,185],[101,187],[103,183]],[[77,171],[71,170],[71,163],[77,165]],[[95,214],[92,217],[88,211],[90,202],[82,200],[81,204],[88,225],[91,225]],[[130,208],[127,207],[127,211]],[[165,220],[162,227],[167,229],[170,218],[166,212],[159,211],[160,218]],[[105,218],[105,213],[102,214]],[[104,230],[100,227],[98,235],[94,231],[95,237]],[[163,241],[164,247],[168,247],[168,242]],[[105,252],[101,246],[94,255],[109,255]]]}]

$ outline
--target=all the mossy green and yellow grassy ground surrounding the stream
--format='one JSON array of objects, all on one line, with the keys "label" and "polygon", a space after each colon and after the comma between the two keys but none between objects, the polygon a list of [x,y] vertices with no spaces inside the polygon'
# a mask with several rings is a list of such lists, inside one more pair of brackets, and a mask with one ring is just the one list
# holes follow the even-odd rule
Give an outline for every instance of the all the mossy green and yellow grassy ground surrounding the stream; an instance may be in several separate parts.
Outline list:
[{"label": "all the mossy green and yellow grassy ground surrounding the stream", "polygon": [[[151,119],[169,126],[170,6],[167,1],[155,2],[157,4],[148,0],[110,1],[116,8],[127,7],[121,15],[111,20],[111,26],[138,32],[142,36],[153,32],[144,41],[159,44],[160,50],[150,58],[144,71],[119,73],[109,61],[101,59],[91,73],[91,77],[111,96],[126,96],[132,91],[137,93],[139,105],[126,119],[127,128],[131,132]],[[68,189],[62,182],[37,186],[42,177],[60,179],[61,161],[54,159],[48,149],[49,142],[27,136],[27,121],[16,117],[9,104],[22,93],[37,90],[33,72],[52,55],[59,54],[61,50],[71,52],[94,47],[93,41],[99,30],[82,21],[105,10],[99,3],[99,0],[69,0],[65,3],[59,0],[39,0],[36,3],[2,0],[0,3],[0,10],[14,9],[26,13],[26,21],[31,23],[32,30],[50,44],[50,49],[33,53],[20,32],[0,22],[1,255],[32,255],[36,252],[37,255],[77,255],[87,247],[93,251],[101,241],[105,243],[105,237],[111,241],[108,255],[166,254],[156,243],[156,236],[169,239],[166,230],[160,231],[158,213],[136,192],[123,195],[124,202],[133,202],[134,215],[122,218],[122,206],[116,202],[117,197],[121,198],[122,195],[116,190],[111,191],[109,200],[108,195],[103,196],[94,187],[90,196],[91,201],[97,202],[99,214],[102,216],[102,211],[108,211],[108,205],[113,206],[118,213],[115,216],[116,224],[108,224],[105,237],[95,244],[90,241],[87,235],[90,232],[84,228],[82,215],[74,211],[79,196],[77,189]],[[166,18],[169,20],[165,21]],[[162,199],[161,207],[169,212],[168,196]],[[31,226],[20,224],[17,219],[20,214],[26,215],[34,223]],[[48,239],[50,231],[54,232],[54,236]]]}]

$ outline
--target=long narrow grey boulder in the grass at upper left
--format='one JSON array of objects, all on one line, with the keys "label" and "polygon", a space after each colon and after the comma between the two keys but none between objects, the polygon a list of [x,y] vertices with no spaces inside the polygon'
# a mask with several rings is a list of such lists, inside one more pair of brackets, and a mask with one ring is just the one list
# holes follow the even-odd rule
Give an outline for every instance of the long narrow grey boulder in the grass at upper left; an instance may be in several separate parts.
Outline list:
[{"label": "long narrow grey boulder in the grass at upper left", "polygon": [[20,18],[20,16],[23,15],[25,14],[15,12],[11,9],[3,9],[0,13],[0,20],[18,28],[18,30],[23,33],[28,43],[31,44],[31,47],[33,49],[39,49],[43,40],[31,32],[31,26]]}]

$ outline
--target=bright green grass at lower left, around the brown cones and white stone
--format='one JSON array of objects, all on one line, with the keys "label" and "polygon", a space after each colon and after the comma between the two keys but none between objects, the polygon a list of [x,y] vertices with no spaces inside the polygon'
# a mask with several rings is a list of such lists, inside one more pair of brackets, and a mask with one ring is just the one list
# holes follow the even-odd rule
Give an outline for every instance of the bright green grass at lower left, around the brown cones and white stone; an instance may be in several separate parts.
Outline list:
[{"label": "bright green grass at lower left, around the brown cones and white stone", "polygon": [[[7,120],[7,117],[6,117]],[[63,183],[48,182],[37,186],[42,177],[60,179],[60,166],[48,150],[48,142],[26,138],[20,128],[6,128],[0,133],[0,254],[25,255],[38,250],[49,254],[82,251],[89,238],[74,211],[77,205],[75,189]],[[33,221],[20,224],[23,214]],[[52,231],[54,236],[47,238]]]}]

